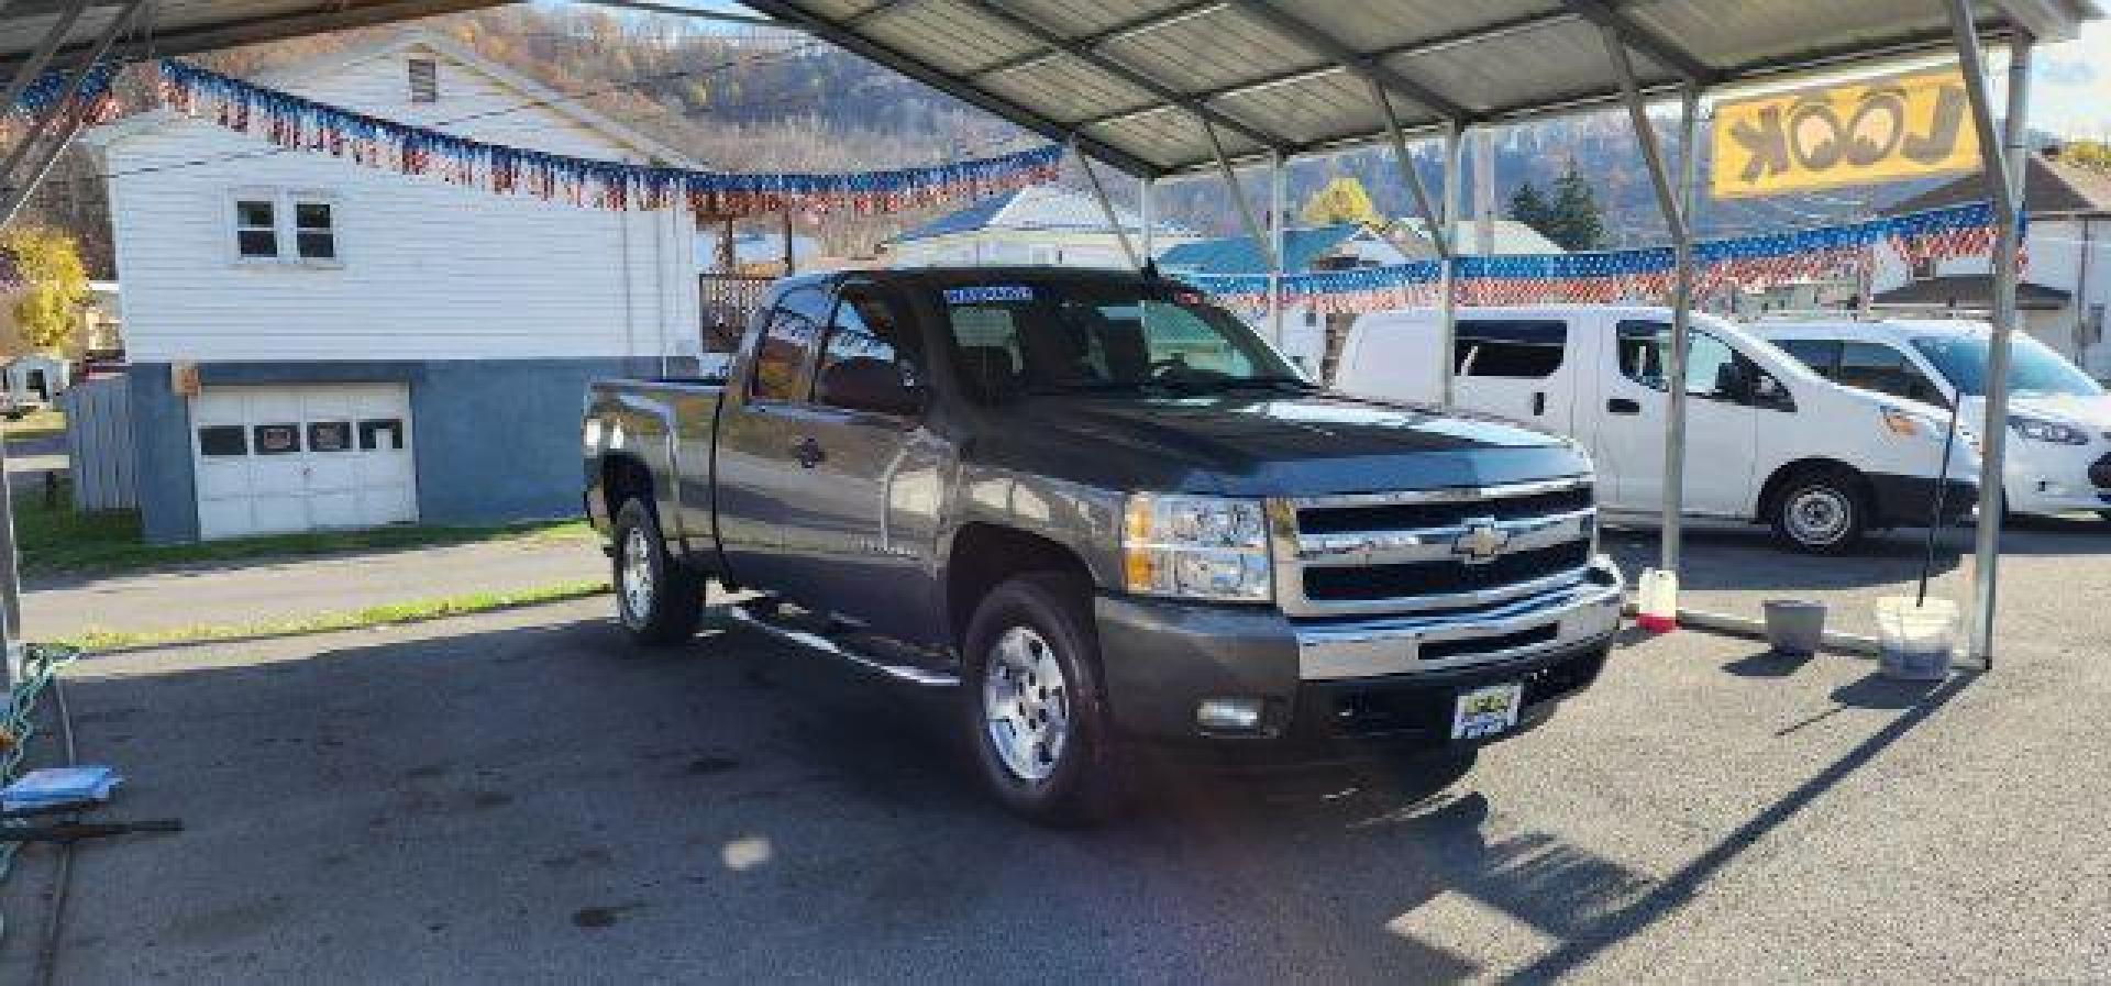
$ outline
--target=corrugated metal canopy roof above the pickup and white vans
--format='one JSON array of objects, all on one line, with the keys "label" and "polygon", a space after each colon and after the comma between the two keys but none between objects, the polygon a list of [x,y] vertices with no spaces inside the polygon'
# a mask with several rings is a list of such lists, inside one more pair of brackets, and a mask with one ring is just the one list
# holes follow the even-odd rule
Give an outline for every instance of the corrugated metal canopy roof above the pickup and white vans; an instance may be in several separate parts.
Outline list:
[{"label": "corrugated metal canopy roof above the pickup and white vans", "polygon": [[[745,0],[1138,175],[1611,106],[1604,34],[1651,95],[1951,49],[1932,0]],[[2096,0],[1978,0],[1991,36],[2073,36]]]}]

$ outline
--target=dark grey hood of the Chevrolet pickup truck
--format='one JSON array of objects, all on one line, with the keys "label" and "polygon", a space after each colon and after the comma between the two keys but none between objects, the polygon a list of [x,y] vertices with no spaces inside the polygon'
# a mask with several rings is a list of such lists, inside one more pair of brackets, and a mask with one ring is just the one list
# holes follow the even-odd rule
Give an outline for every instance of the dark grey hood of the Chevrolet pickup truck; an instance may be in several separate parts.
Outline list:
[{"label": "dark grey hood of the Chevrolet pickup truck", "polygon": [[969,458],[1112,490],[1317,496],[1590,471],[1568,441],[1499,418],[1347,395],[1028,397]]}]

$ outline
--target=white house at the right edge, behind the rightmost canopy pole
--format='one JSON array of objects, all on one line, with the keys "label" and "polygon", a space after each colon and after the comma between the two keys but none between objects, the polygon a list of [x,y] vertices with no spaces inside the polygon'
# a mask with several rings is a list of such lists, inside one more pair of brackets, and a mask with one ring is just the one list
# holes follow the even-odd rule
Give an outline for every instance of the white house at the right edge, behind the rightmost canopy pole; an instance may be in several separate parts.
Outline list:
[{"label": "white house at the right edge, behind the rightmost canopy pole", "polygon": [[[2111,376],[2105,344],[2105,306],[2111,304],[2111,175],[2060,160],[2058,152],[2031,154],[2024,171],[2027,266],[2016,285],[2022,327],[2090,374]],[[1980,175],[1921,192],[1887,213],[1982,203]],[[1984,317],[1993,298],[1986,258],[1906,264],[1896,251],[1877,251],[1870,302],[1896,315]]]}]

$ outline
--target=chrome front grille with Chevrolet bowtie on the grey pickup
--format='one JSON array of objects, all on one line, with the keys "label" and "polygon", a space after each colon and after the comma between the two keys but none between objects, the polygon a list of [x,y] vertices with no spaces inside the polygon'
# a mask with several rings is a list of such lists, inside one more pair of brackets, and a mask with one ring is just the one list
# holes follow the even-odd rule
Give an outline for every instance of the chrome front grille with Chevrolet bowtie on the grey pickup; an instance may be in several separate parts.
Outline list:
[{"label": "chrome front grille with Chevrolet bowtie on the grey pickup", "polygon": [[1271,503],[1275,591],[1292,617],[1484,606],[1583,579],[1587,477]]}]

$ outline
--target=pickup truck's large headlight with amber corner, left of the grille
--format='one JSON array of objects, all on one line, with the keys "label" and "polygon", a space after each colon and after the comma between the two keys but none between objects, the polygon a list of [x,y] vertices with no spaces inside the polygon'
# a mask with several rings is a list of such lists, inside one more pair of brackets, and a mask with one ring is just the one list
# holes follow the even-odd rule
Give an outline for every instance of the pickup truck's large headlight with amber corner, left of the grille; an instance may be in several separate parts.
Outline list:
[{"label": "pickup truck's large headlight with amber corner, left of the grille", "polygon": [[1260,500],[1129,494],[1121,570],[1131,593],[1269,602],[1269,526]]}]

